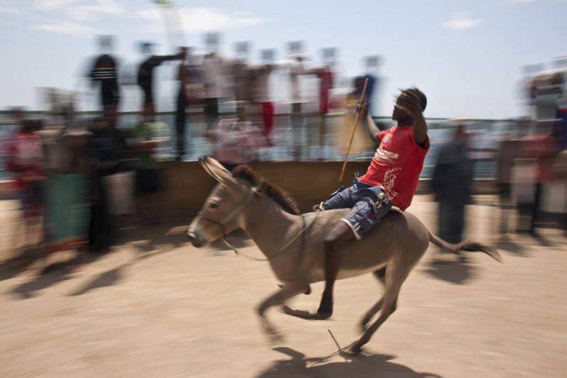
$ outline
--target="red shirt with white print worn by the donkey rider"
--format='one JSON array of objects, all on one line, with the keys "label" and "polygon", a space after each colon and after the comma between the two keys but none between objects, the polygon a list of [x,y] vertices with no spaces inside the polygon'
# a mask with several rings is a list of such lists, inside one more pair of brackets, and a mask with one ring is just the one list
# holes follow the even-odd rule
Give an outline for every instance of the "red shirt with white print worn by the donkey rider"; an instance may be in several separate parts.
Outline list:
[{"label": "red shirt with white print worn by the donkey rider", "polygon": [[384,189],[392,205],[405,210],[410,204],[423,161],[429,150],[429,136],[421,147],[413,139],[413,126],[395,126],[379,133],[380,145],[368,171],[359,178]]}]

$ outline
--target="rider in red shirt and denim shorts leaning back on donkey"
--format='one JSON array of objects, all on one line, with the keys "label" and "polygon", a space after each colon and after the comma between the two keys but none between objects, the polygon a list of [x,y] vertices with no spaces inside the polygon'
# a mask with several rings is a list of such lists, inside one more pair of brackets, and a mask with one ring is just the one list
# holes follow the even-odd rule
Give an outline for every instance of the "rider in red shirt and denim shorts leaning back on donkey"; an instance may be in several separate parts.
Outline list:
[{"label": "rider in red shirt and denim shorts leaning back on donkey", "polygon": [[[315,211],[352,209],[325,237],[325,290],[317,310],[320,319],[327,319],[333,312],[333,285],[343,244],[352,238],[360,239],[392,206],[404,211],[411,204],[429,150],[427,124],[422,115],[426,105],[427,98],[419,89],[402,91],[392,113],[397,126],[385,131],[376,126],[366,104],[357,108],[366,121],[370,139],[379,147],[363,176],[354,178],[351,187],[341,187],[314,207]],[[384,275],[385,268],[377,274]]]}]

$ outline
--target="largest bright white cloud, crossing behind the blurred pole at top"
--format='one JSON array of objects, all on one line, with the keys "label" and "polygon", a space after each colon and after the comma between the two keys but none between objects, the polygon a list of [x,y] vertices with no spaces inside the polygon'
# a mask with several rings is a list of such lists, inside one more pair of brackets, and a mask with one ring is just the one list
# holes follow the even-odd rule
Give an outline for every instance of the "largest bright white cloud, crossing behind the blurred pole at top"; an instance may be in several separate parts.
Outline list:
[{"label": "largest bright white cloud, crossing behind the blurred pole at top", "polygon": [[[163,17],[170,23],[173,31],[202,32],[206,30],[226,30],[253,26],[263,23],[266,19],[255,17],[249,12],[235,12],[231,14],[215,8],[195,7],[181,8],[178,11],[147,8],[136,11],[135,15],[145,21],[147,30],[161,30]],[[149,25],[147,23],[150,23]]]}]

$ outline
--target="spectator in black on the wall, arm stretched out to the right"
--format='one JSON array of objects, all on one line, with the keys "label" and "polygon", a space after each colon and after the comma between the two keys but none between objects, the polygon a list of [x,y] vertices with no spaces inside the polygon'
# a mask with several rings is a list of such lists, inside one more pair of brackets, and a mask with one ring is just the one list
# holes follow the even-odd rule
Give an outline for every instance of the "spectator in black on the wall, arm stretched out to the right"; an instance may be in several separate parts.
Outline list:
[{"label": "spectator in black on the wall, arm stretched out to the right", "polygon": [[153,120],[155,117],[154,68],[168,60],[183,59],[186,55],[186,48],[181,48],[177,55],[152,55],[152,44],[146,42],[142,44],[142,53],[146,58],[138,68],[138,86],[144,93],[143,111]]}]

